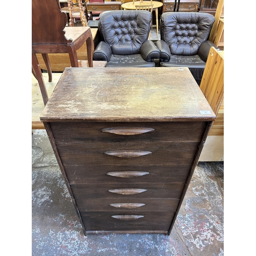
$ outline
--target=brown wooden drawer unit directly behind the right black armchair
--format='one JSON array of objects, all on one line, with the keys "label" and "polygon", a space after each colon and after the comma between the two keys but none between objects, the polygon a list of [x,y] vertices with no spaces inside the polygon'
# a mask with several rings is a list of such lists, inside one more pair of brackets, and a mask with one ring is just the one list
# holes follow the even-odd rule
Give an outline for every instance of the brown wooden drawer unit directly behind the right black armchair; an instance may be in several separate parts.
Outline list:
[{"label": "brown wooden drawer unit directly behind the right black armchair", "polygon": [[[162,0],[163,12],[173,12],[175,7],[174,0]],[[180,12],[197,12],[199,0],[180,0],[179,11]],[[178,1],[176,4],[176,10],[178,7]]]}]

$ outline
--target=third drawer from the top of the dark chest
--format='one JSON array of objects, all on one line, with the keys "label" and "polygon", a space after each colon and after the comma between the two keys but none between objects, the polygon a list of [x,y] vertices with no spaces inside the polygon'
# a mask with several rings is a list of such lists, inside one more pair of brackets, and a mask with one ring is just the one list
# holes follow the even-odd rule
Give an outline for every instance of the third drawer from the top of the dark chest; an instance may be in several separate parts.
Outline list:
[{"label": "third drawer from the top of the dark chest", "polygon": [[189,165],[65,166],[70,184],[185,183]]}]

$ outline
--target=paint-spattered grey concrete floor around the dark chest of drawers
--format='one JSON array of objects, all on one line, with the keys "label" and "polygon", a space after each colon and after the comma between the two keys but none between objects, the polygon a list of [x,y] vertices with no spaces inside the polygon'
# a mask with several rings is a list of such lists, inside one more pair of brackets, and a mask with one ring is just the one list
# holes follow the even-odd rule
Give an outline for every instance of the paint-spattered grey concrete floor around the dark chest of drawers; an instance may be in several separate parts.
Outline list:
[{"label": "paint-spattered grey concrete floor around the dark chest of drawers", "polygon": [[32,134],[32,255],[222,256],[224,162],[199,162],[170,236],[84,236],[45,130]]}]

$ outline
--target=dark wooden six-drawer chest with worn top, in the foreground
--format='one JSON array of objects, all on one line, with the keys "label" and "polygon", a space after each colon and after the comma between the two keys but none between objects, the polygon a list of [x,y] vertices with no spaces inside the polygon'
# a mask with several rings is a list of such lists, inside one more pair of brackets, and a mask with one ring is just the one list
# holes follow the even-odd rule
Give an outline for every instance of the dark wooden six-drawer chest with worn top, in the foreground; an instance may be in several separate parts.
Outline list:
[{"label": "dark wooden six-drawer chest with worn top, in the foreground", "polygon": [[215,118],[188,68],[66,68],[40,116],[85,234],[170,234]]}]

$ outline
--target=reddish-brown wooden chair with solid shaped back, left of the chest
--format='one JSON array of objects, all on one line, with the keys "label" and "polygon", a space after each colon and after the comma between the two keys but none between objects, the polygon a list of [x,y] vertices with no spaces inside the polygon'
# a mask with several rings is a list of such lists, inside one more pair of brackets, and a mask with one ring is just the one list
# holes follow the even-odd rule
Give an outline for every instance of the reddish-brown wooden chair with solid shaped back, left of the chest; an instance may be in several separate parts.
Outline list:
[{"label": "reddish-brown wooden chair with solid shaped back, left of the chest", "polygon": [[90,27],[66,27],[68,16],[56,0],[32,1],[32,73],[44,103],[48,101],[36,54],[42,54],[50,77],[48,53],[68,53],[71,67],[79,67],[76,51],[86,42],[89,67],[93,67],[93,36]]}]

